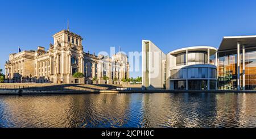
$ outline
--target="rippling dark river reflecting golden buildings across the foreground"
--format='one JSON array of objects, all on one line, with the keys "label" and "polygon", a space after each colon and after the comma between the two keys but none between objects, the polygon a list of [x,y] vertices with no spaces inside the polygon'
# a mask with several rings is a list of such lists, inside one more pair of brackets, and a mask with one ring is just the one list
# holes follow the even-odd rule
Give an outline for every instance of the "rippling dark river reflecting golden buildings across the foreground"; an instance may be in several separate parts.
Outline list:
[{"label": "rippling dark river reflecting golden buildings across the foreground", "polygon": [[256,94],[0,96],[0,127],[256,127]]}]

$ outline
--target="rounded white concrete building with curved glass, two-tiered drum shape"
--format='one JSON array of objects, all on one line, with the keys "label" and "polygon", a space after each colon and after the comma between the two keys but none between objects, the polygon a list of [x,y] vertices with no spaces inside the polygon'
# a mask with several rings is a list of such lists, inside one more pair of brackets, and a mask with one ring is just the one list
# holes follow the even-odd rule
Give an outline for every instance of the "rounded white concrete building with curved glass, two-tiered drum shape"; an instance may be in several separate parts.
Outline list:
[{"label": "rounded white concrete building with curved glass, two-tiered drum shape", "polygon": [[170,90],[215,90],[216,65],[210,56],[214,47],[188,47],[167,54],[166,88]]}]

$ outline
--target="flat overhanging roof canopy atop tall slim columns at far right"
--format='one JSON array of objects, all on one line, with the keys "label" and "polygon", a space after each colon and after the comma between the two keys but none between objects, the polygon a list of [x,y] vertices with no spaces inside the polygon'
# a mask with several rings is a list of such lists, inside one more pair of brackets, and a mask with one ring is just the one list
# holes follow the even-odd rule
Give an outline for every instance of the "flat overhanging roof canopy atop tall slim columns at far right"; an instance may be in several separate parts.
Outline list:
[{"label": "flat overhanging roof canopy atop tall slim columns at far right", "polygon": [[237,49],[237,42],[240,42],[240,47],[242,47],[242,45],[245,45],[245,47],[256,46],[256,35],[223,37],[218,50]]}]

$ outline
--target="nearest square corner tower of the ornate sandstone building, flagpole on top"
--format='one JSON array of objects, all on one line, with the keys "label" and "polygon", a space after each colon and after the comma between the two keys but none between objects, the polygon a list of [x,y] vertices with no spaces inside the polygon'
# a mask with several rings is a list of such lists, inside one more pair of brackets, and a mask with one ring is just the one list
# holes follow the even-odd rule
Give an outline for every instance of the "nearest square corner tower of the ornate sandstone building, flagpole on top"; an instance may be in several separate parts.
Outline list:
[{"label": "nearest square corner tower of the ornate sandstone building, flagpole on top", "polygon": [[82,37],[68,30],[62,30],[52,36],[54,44],[50,44],[50,58],[53,65],[53,82],[84,83],[72,77],[76,72],[84,73],[84,50]]}]

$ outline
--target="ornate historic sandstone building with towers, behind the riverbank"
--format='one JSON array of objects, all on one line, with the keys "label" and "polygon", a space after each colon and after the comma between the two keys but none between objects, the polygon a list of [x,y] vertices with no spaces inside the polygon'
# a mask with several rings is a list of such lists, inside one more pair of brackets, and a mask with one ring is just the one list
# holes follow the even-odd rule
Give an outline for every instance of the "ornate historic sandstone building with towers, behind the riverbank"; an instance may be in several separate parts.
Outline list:
[{"label": "ornate historic sandstone building with towers, behind the riverbank", "polygon": [[[122,78],[129,78],[125,54],[117,53],[111,58],[85,53],[82,37],[69,30],[55,33],[53,39],[49,50],[38,47],[10,54],[5,64],[6,82],[121,84]],[[73,78],[76,72],[84,77]]]}]

